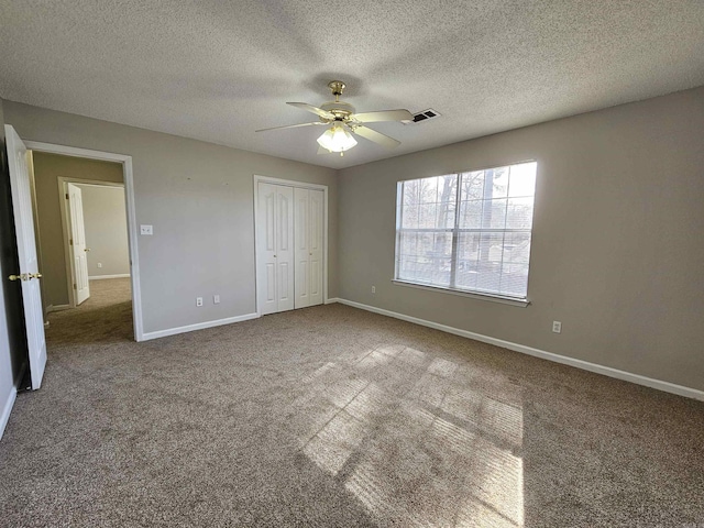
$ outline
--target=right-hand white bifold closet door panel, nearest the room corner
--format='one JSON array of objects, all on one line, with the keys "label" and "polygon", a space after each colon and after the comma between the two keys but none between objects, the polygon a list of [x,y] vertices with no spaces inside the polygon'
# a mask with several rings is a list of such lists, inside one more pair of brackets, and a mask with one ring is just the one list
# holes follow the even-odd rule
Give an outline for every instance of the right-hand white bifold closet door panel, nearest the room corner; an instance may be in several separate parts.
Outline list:
[{"label": "right-hand white bifold closet door panel, nearest the room corner", "polygon": [[294,189],[295,307],[322,304],[322,190]]}]

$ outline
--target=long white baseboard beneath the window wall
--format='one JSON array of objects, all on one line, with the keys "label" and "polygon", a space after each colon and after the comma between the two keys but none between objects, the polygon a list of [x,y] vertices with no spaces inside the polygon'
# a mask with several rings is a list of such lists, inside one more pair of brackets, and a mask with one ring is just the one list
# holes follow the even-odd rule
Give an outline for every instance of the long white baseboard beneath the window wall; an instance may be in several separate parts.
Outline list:
[{"label": "long white baseboard beneath the window wall", "polygon": [[[328,299],[331,302],[331,299]],[[408,322],[415,322],[416,324],[420,324],[424,327],[435,328],[436,330],[442,330],[443,332],[453,333],[455,336],[461,336],[463,338],[474,339],[476,341],[482,341],[483,343],[495,344],[497,346],[502,346],[504,349],[513,350],[515,352],[521,352],[524,354],[532,355],[536,358],[540,358],[548,361],[553,361],[556,363],[562,363],[564,365],[574,366],[576,369],[582,369],[584,371],[595,372],[596,374],[603,374],[608,377],[614,377],[616,380],[623,380],[625,382],[635,383],[637,385],[645,385],[646,387],[657,388],[658,391],[663,391],[666,393],[676,394],[679,396],[684,396],[688,398],[698,399],[704,402],[704,391],[697,391],[695,388],[684,387],[682,385],[675,385],[670,382],[663,382],[661,380],[653,380],[651,377],[641,376],[639,374],[632,374],[626,371],[619,371],[617,369],[612,369],[610,366],[598,365],[596,363],[590,363],[587,361],[576,360],[574,358],[568,358],[565,355],[553,354],[552,352],[546,352],[544,350],[534,349],[531,346],[526,346],[525,344],[514,343],[510,341],[504,341],[503,339],[492,338],[490,336],[483,336],[481,333],[470,332],[468,330],[461,330],[454,327],[448,327],[446,324],[440,324],[438,322],[427,321],[425,319],[419,319],[417,317],[406,316],[404,314],[397,314],[395,311],[385,310],[383,308],[376,308],[374,306],[363,305],[362,302],[355,302],[353,300],[346,299],[336,299],[337,302],[341,302],[343,305],[352,306],[354,308],[360,308],[366,311],[373,311],[374,314],[381,314],[383,316],[393,317],[395,319],[402,319]]]}]

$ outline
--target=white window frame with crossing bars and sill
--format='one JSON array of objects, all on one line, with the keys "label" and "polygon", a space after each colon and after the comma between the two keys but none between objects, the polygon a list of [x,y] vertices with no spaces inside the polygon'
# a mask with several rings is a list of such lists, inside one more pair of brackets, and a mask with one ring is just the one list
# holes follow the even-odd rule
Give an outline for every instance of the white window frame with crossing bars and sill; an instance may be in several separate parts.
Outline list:
[{"label": "white window frame with crossing bars and sill", "polygon": [[[431,290],[431,292],[439,292],[439,293],[444,293],[444,294],[451,294],[451,295],[460,295],[460,296],[464,296],[464,297],[471,297],[471,298],[476,298],[476,299],[481,299],[481,300],[491,300],[491,301],[495,301],[495,302],[502,302],[502,304],[506,304],[506,305],[512,305],[512,306],[520,306],[520,307],[526,307],[528,305],[530,305],[530,300],[528,300],[528,288],[526,288],[526,297],[518,297],[518,296],[510,296],[507,294],[502,294],[502,293],[491,293],[491,292],[483,292],[483,290],[473,290],[473,289],[464,289],[464,288],[458,288],[458,287],[453,287],[453,285],[455,284],[455,271],[457,271],[457,262],[458,262],[458,240],[459,240],[459,234],[463,233],[463,232],[479,232],[479,233],[491,233],[491,232],[501,232],[501,233],[510,233],[510,232],[528,232],[531,235],[531,252],[532,252],[532,221],[531,221],[531,227],[530,229],[461,229],[459,228],[459,215],[460,215],[460,201],[461,201],[461,191],[460,191],[460,182],[461,182],[461,175],[462,174],[468,174],[468,173],[474,173],[474,172],[479,172],[479,170],[492,170],[492,169],[496,169],[496,168],[503,168],[503,167],[510,167],[514,165],[520,165],[520,164],[525,164],[525,163],[536,163],[536,178],[537,178],[537,162],[535,160],[526,160],[526,161],[521,161],[521,162],[514,162],[510,164],[502,164],[502,165],[495,165],[495,166],[491,166],[491,167],[485,167],[485,168],[473,168],[470,170],[462,170],[462,172],[457,172],[457,173],[449,173],[449,175],[457,175],[457,186],[458,189],[455,191],[455,219],[453,222],[453,227],[452,228],[440,228],[437,227],[435,229],[430,229],[430,228],[403,228],[402,227],[402,222],[403,222],[403,199],[404,199],[404,184],[406,183],[406,180],[402,180],[397,183],[397,188],[396,188],[396,244],[395,244],[395,250],[394,250],[394,278],[392,279],[392,282],[396,285],[399,286],[407,286],[407,287],[413,287],[413,288],[418,288],[418,289],[425,289],[425,290]],[[443,175],[439,175],[439,176],[443,176]],[[424,178],[414,178],[414,179],[427,179],[427,178],[433,178],[433,177],[438,177],[438,176],[427,176]],[[534,191],[534,215],[535,215],[535,191]],[[400,251],[400,243],[402,243],[402,232],[433,232],[433,233],[441,233],[441,232],[446,232],[452,235],[452,254],[451,254],[451,271],[450,271],[450,286],[446,287],[446,286],[440,286],[440,285],[435,285],[435,284],[429,284],[429,283],[422,283],[422,282],[414,282],[414,280],[409,280],[409,279],[403,279],[399,278],[399,265],[400,265],[400,257],[399,257],[399,251]],[[528,258],[528,270],[529,270],[529,274],[530,274],[530,256]]]}]

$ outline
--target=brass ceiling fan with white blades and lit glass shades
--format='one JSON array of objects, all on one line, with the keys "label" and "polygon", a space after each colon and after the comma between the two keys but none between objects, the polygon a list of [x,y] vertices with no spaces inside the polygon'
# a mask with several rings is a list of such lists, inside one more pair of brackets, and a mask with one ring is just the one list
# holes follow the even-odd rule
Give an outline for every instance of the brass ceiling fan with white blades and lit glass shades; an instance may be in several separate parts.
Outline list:
[{"label": "brass ceiling fan with white blades and lit glass shades", "polygon": [[297,107],[310,113],[318,116],[319,121],[311,123],[288,124],[285,127],[273,127],[271,129],[262,129],[256,132],[265,132],[268,130],[295,129],[298,127],[310,125],[330,125],[323,134],[318,138],[318,154],[327,154],[329,152],[339,152],[343,155],[344,151],[349,151],[356,145],[353,134],[360,135],[366,140],[373,141],[386,148],[395,148],[400,142],[389,138],[388,135],[376,132],[366,127],[366,123],[375,123],[380,121],[413,121],[414,116],[408,110],[381,110],[377,112],[354,113],[354,107],[348,102],[340,100],[340,96],[344,91],[345,84],[341,80],[331,80],[328,88],[334,96],[334,101],[329,101],[320,107],[314,107],[307,102],[287,102],[292,107]]}]

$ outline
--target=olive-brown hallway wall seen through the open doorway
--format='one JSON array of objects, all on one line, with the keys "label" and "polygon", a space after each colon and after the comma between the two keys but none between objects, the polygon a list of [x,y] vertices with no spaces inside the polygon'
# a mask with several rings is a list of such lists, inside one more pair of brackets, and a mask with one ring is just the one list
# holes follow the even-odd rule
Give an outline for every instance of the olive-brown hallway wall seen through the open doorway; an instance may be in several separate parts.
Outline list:
[{"label": "olive-brown hallway wall seen through the open doorway", "polygon": [[58,178],[122,183],[122,165],[44,152],[33,152],[32,157],[40,227],[38,241],[42,252],[42,301],[44,307],[68,305],[68,279],[61,211],[63,198],[59,194]]}]

